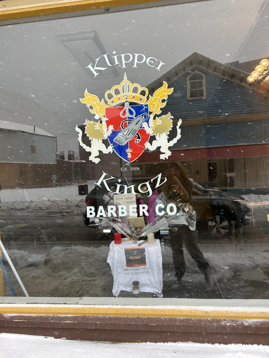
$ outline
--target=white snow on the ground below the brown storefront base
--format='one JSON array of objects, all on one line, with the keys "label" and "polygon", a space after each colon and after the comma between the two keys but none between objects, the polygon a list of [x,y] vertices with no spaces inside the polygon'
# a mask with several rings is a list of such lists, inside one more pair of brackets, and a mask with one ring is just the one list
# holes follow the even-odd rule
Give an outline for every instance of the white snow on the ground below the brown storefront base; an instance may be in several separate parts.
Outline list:
[{"label": "white snow on the ground below the brown storefront base", "polygon": [[10,333],[0,334],[0,346],[2,358],[269,358],[263,345],[109,343]]}]

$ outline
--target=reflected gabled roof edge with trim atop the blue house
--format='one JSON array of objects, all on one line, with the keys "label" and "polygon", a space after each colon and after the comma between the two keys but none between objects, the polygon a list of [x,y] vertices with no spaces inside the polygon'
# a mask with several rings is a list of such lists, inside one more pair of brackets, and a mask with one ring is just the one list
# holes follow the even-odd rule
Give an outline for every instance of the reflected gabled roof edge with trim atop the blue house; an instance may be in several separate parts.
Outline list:
[{"label": "reflected gabled roof edge with trim atop the blue house", "polygon": [[208,72],[216,74],[222,78],[236,82],[245,87],[251,87],[254,91],[260,92],[265,97],[269,98],[269,83],[266,81],[255,81],[254,83],[247,83],[246,79],[249,73],[241,71],[238,68],[227,66],[220,62],[214,61],[206,56],[203,56],[197,52],[194,52],[189,57],[185,58],[175,67],[166,72],[163,76],[156,79],[154,82],[147,86],[149,93],[152,93],[159,87],[162,86],[163,81],[168,84],[173,82],[176,78],[181,77],[185,73],[191,71],[194,67],[202,68]]}]

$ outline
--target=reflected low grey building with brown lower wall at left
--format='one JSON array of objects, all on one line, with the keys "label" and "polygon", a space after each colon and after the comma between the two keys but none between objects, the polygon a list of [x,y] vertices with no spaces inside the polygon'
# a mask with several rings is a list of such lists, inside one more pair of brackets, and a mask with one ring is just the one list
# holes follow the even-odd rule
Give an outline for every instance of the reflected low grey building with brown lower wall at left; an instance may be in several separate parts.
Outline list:
[{"label": "reflected low grey building with brown lower wall at left", "polygon": [[36,126],[0,120],[2,189],[51,186],[55,176],[58,183],[85,181],[85,162],[56,159],[55,136]]}]

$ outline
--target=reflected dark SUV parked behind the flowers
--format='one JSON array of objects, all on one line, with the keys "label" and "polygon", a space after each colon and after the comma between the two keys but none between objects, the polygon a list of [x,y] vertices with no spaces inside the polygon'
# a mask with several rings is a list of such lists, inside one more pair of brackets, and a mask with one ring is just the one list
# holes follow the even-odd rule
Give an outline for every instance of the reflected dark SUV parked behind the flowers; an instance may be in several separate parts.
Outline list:
[{"label": "reflected dark SUV parked behind the flowers", "polygon": [[[108,185],[111,191],[116,189],[118,179],[109,180]],[[129,185],[139,185],[151,180],[152,177],[135,176],[126,179]],[[220,190],[204,189],[193,180],[192,183],[193,191],[190,202],[197,213],[197,224],[206,224],[209,232],[214,236],[229,234],[232,230],[250,222],[250,208],[245,204],[243,197]],[[161,187],[158,190],[161,191]],[[86,205],[93,206],[97,213],[98,207],[104,203],[103,196],[105,194],[107,194],[107,189],[95,185],[95,188],[85,198]],[[101,220],[97,217],[87,218],[85,211],[83,221],[85,225],[96,228]]]}]

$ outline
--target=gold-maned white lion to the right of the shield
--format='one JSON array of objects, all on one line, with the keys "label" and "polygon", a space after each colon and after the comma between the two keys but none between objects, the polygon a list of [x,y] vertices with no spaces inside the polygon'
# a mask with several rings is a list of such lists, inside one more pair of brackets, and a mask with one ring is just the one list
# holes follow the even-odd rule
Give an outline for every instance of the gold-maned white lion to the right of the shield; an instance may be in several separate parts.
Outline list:
[{"label": "gold-maned white lion to the right of the shield", "polygon": [[176,125],[176,136],[168,141],[168,135],[170,130],[173,127],[173,116],[171,116],[171,113],[168,112],[166,115],[163,115],[161,117],[156,117],[154,120],[152,116],[150,116],[150,126],[146,122],[143,123],[143,127],[145,128],[147,134],[155,135],[156,140],[150,144],[149,142],[145,143],[145,148],[149,150],[156,150],[157,147],[160,147],[160,151],[164,154],[160,155],[160,159],[168,159],[169,155],[171,155],[171,151],[169,150],[169,147],[176,144],[176,142],[181,137],[181,119],[178,121],[178,124]]}]

